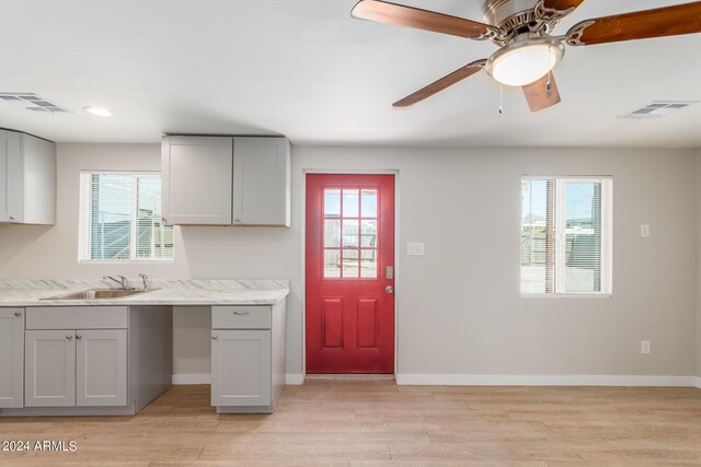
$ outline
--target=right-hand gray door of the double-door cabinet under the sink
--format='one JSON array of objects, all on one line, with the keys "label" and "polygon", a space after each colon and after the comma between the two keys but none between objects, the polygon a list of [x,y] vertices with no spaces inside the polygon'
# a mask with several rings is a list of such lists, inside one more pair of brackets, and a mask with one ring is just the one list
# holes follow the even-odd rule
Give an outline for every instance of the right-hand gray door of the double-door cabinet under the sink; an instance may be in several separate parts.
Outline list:
[{"label": "right-hand gray door of the double-door cabinet under the sink", "polygon": [[127,405],[127,330],[76,331],[76,405]]}]

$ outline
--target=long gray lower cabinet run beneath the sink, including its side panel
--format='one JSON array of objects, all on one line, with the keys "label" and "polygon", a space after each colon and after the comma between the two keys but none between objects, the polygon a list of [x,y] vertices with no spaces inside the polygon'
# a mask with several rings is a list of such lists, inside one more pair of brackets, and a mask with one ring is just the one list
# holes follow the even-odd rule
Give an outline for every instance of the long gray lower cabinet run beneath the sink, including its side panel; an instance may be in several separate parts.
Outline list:
[{"label": "long gray lower cabinet run beneath the sink, including its side panel", "polygon": [[0,415],[135,415],[171,386],[172,329],[171,306],[0,308]]}]

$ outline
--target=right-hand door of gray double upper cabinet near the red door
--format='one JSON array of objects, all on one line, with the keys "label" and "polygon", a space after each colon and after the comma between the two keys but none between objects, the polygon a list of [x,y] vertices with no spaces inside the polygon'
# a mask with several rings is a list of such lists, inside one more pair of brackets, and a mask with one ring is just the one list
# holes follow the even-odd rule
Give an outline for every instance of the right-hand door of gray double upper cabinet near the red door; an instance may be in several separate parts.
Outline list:
[{"label": "right-hand door of gray double upper cabinet near the red door", "polygon": [[234,138],[233,224],[290,225],[290,147],[285,138]]}]

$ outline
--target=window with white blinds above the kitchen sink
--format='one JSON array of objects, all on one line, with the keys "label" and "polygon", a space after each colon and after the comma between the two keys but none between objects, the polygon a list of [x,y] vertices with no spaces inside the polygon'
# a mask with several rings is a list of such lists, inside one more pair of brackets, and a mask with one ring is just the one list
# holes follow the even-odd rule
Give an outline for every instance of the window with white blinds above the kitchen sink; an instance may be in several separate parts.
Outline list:
[{"label": "window with white blinds above the kitchen sink", "polygon": [[154,173],[80,175],[79,260],[173,258],[173,227],[161,221]]}]

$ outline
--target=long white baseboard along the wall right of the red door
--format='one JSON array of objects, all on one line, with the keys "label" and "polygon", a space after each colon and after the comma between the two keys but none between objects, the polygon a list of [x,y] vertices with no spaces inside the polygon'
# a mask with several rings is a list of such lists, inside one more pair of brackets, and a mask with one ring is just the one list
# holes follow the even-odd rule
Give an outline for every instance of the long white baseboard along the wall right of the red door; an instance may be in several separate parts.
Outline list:
[{"label": "long white baseboard along the wall right of the red door", "polygon": [[690,386],[701,387],[696,376],[645,375],[470,375],[398,374],[398,385],[425,386]]}]

